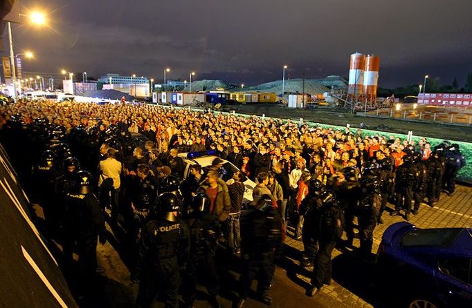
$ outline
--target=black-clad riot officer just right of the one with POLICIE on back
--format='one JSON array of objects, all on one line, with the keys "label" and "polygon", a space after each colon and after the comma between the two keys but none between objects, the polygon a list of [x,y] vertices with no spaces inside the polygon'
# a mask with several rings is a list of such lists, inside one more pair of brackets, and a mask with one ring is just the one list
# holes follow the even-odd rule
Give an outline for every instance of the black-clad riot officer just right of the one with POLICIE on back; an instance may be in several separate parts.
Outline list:
[{"label": "black-clad riot officer just right of the one with POLICIE on back", "polygon": [[203,280],[210,294],[210,307],[219,307],[218,271],[215,264],[219,220],[215,215],[210,215],[210,199],[205,193],[198,193],[193,198],[192,210],[188,218],[191,248],[183,273],[183,301],[185,307],[193,307],[197,280]]}]

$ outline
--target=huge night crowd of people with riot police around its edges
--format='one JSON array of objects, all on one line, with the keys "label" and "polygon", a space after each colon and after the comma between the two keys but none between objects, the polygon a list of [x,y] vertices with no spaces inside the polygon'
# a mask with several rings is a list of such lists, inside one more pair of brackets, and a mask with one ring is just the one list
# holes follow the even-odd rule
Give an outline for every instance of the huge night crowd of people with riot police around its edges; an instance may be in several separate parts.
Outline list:
[{"label": "huge night crowd of people with riot police around its edges", "polygon": [[[446,141],[432,147],[426,138],[145,104],[17,102],[0,106],[0,125],[48,235],[62,243],[64,268],[79,256],[79,296],[96,275],[109,220],[129,234],[136,307],[151,307],[158,294],[177,307],[181,284],[192,307],[202,278],[219,307],[220,249],[242,260],[237,307],[256,274],[257,295],[271,305],[287,228],[303,243],[300,265],[314,267],[314,296],[331,281],[336,245],[353,248],[354,229],[359,255],[370,260],[385,210],[409,220],[435,206],[443,191],[454,193],[465,164],[459,145]],[[198,151],[216,157],[185,174],[178,154]],[[228,174],[227,162],[239,171]],[[246,179],[257,184],[244,204]]]}]

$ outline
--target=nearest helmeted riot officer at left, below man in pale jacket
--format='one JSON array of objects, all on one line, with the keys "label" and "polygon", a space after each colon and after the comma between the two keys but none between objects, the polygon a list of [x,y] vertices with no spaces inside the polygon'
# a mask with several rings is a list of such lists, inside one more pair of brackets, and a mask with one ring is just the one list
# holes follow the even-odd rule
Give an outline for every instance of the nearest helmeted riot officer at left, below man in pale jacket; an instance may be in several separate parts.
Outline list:
[{"label": "nearest helmeted riot officer at left, below man in pale jacket", "polygon": [[91,291],[97,267],[97,236],[105,244],[105,218],[92,191],[92,176],[87,171],[77,173],[74,189],[66,194],[66,222],[64,224],[64,258],[72,264],[72,253],[79,256],[78,287]]}]

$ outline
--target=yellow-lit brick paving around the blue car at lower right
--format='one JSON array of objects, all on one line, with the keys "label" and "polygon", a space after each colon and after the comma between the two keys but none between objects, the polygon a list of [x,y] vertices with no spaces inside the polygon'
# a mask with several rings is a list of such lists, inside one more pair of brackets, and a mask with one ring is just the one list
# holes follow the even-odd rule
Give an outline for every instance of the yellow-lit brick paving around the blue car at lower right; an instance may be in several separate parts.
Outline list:
[{"label": "yellow-lit brick paving around the blue car at lower right", "polygon": [[[394,206],[388,204],[388,208],[393,209]],[[374,231],[374,253],[379,248],[385,229],[394,222],[400,221],[403,221],[401,216],[392,217],[388,211],[383,213],[384,223],[377,225]],[[443,193],[441,200],[435,204],[434,208],[421,204],[418,215],[410,215],[410,222],[421,228],[472,227],[472,188],[457,186],[457,190],[451,197]],[[287,233],[285,244],[299,251],[298,254],[292,254],[300,257],[301,251],[303,251],[302,242],[293,239],[293,229],[289,228]],[[354,246],[359,246],[358,239],[354,239]],[[332,298],[337,305],[333,307],[374,307],[376,305],[376,298],[374,298],[374,294],[370,293],[372,290],[369,290],[370,279],[365,276],[365,264],[356,258],[354,252],[343,253],[338,249],[333,252],[334,279],[332,285],[324,287],[320,294]],[[290,256],[287,258],[300,264],[300,258],[291,258]],[[336,270],[336,265],[342,268],[342,273]],[[309,267],[309,271],[312,269],[313,267]],[[307,284],[310,281],[309,271],[305,271],[307,273],[305,275],[297,274],[298,278]],[[338,274],[336,275],[336,273]],[[350,291],[351,289],[353,291]]]}]

